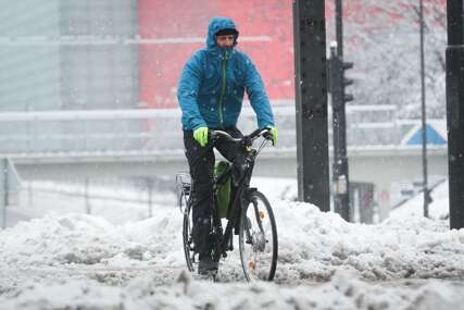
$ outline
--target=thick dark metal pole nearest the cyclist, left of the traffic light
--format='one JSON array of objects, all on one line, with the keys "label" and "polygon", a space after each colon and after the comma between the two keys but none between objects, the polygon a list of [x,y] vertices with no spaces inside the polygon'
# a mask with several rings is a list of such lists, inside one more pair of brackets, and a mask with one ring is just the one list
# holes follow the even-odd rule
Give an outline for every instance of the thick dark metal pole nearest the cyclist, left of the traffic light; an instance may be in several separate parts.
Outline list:
[{"label": "thick dark metal pole nearest the cyclist, left of the traffic light", "polygon": [[293,1],[298,198],[330,211],[324,0]]}]

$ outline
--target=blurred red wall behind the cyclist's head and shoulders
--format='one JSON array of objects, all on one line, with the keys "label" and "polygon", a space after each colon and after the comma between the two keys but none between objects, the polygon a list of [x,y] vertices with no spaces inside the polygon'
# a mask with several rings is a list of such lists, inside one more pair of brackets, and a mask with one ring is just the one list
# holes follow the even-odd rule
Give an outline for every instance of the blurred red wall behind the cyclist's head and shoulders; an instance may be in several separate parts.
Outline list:
[{"label": "blurred red wall behind the cyclist's head and shoulders", "polygon": [[142,44],[139,49],[140,101],[151,108],[177,107],[176,87],[191,53],[205,46],[214,16],[233,18],[241,37],[266,36],[271,41],[240,41],[261,72],[272,100],[291,99],[293,87],[291,0],[139,0],[141,39],[201,38],[201,42]]}]

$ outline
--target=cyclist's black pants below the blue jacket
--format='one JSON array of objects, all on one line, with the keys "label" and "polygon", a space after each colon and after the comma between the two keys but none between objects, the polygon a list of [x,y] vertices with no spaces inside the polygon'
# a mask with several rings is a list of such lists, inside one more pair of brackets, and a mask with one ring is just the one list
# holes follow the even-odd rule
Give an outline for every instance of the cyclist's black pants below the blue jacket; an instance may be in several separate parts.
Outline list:
[{"label": "cyclist's black pants below the blue jacket", "polygon": [[[224,131],[235,138],[243,136],[237,127]],[[193,138],[191,131],[184,131],[184,146],[192,181],[189,203],[192,208],[193,243],[197,252],[200,255],[210,253],[213,246],[210,238],[210,230],[214,208],[214,151],[213,148],[210,148],[205,152],[208,145],[202,148]],[[240,146],[226,138],[220,138],[215,147],[230,162],[238,160],[241,154]]]}]

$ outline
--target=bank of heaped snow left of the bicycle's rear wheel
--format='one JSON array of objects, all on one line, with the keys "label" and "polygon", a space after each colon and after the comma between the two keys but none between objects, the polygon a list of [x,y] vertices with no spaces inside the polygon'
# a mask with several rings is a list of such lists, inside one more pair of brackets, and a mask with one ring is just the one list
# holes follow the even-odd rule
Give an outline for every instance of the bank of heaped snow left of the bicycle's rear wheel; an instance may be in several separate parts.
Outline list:
[{"label": "bank of heaped snow left of the bicycle's rear wheel", "polygon": [[[171,213],[174,211],[177,210],[171,209]],[[180,239],[180,214],[171,213],[125,226],[86,214],[47,215],[20,222],[0,234],[1,261],[42,266],[95,264],[121,255],[135,260],[151,258],[150,251],[159,253],[160,248],[167,249],[173,237]]]}]

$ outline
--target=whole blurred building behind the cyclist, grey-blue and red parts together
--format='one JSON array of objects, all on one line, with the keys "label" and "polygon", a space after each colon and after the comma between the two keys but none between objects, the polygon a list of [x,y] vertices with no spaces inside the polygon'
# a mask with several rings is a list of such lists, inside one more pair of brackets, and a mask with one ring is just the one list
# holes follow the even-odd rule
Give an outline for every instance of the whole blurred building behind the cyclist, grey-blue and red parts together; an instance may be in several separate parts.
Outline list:
[{"label": "whole blurred building behind the cyclist, grey-blue and red parts together", "polygon": [[176,108],[183,64],[204,47],[216,15],[237,22],[239,47],[255,60],[271,98],[293,98],[291,1],[0,0],[0,5],[2,111]]}]

